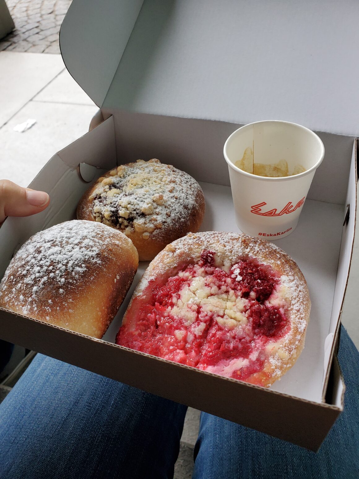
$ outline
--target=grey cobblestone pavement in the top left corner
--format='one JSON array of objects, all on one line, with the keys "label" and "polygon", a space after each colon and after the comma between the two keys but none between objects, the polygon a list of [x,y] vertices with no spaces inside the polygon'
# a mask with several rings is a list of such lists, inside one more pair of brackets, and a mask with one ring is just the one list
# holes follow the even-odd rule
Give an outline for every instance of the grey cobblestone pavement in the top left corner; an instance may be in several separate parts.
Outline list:
[{"label": "grey cobblestone pavement in the top left corner", "polygon": [[15,30],[0,51],[60,53],[58,34],[72,0],[6,0]]}]

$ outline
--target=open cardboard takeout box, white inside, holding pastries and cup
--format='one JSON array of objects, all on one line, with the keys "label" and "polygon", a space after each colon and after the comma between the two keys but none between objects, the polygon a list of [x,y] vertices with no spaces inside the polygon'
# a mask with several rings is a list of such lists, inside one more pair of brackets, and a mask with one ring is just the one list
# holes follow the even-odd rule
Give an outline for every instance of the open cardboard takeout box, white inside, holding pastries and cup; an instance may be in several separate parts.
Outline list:
[{"label": "open cardboard takeout box, white inside, holding pastries and cup", "polygon": [[[56,153],[31,183],[50,194],[50,206],[34,217],[8,218],[0,229],[2,277],[26,239],[75,218],[81,195],[104,171],[158,158],[201,182],[202,230],[238,231],[224,141],[249,121],[303,124],[323,140],[325,159],[298,227],[276,241],[302,269],[312,300],[305,348],[293,368],[265,389],[115,345],[146,263],[140,263],[103,340],[6,310],[0,311],[2,339],[309,449],[319,447],[343,408],[334,353],[355,230],[352,103],[359,95],[358,75],[332,71],[358,39],[356,16],[348,13],[358,6],[348,2],[345,19],[338,16],[342,3],[322,6],[326,22],[318,3],[309,0],[300,7],[264,0],[73,0],[61,27],[62,55],[101,110],[93,129]],[[350,34],[337,38],[328,55],[331,25],[340,31],[338,22]]]}]

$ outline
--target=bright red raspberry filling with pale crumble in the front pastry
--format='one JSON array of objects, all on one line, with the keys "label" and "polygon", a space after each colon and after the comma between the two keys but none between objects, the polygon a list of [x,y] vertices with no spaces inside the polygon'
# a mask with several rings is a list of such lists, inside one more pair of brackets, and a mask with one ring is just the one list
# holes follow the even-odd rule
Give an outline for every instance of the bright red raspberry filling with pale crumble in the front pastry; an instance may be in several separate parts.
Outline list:
[{"label": "bright red raspberry filling with pale crumble in the front pastry", "polygon": [[261,371],[266,344],[290,327],[283,308],[268,301],[279,277],[247,258],[227,273],[215,266],[215,254],[203,251],[198,264],[165,283],[152,281],[127,311],[116,342],[236,379]]}]

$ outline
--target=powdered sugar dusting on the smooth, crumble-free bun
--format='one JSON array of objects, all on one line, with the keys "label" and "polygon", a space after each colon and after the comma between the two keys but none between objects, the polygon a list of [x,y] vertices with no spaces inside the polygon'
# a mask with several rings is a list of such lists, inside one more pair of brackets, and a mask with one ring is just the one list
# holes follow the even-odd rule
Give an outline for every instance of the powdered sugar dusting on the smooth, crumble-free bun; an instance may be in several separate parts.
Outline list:
[{"label": "powdered sugar dusting on the smooth, crumble-free bun", "polygon": [[46,306],[42,302],[44,288],[51,288],[53,299],[60,297],[62,304],[70,307],[65,293],[78,288],[90,268],[101,268],[101,249],[113,244],[114,236],[125,239],[102,224],[81,220],[36,233],[11,260],[0,284],[0,303],[12,304],[24,315],[41,308],[51,312],[53,300],[48,299]]}]

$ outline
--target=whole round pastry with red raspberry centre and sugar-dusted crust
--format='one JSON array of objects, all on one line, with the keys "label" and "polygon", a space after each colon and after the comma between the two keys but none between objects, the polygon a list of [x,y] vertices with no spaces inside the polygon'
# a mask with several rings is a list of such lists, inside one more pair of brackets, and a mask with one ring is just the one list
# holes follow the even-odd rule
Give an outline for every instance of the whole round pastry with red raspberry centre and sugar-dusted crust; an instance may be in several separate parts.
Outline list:
[{"label": "whole round pastry with red raspberry centre and sugar-dusted crust", "polygon": [[188,234],[137,285],[116,342],[270,386],[304,347],[310,298],[297,264],[244,234]]}]

